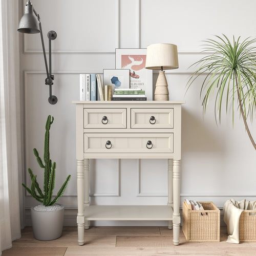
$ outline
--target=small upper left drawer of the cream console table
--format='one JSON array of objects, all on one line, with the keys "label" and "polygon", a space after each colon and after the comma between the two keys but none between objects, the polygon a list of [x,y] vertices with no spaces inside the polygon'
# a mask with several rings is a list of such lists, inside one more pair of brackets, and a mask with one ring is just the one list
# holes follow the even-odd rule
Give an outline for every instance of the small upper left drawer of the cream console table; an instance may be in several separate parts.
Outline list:
[{"label": "small upper left drawer of the cream console table", "polygon": [[83,109],[83,127],[126,128],[126,109]]}]

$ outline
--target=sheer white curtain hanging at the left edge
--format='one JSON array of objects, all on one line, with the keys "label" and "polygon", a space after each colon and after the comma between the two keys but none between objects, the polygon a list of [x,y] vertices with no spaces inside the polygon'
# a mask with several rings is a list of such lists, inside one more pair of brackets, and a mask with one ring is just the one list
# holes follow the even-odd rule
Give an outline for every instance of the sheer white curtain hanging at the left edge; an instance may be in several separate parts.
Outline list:
[{"label": "sheer white curtain hanging at the left edge", "polygon": [[20,238],[22,151],[18,4],[0,0],[0,255]]}]

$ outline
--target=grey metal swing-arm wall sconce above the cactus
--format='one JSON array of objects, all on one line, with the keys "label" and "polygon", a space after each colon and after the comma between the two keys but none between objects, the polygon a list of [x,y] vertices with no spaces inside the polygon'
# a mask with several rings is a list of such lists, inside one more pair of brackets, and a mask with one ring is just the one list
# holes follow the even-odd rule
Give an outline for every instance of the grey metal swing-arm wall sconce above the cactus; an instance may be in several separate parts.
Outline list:
[{"label": "grey metal swing-arm wall sconce above the cactus", "polygon": [[[35,14],[38,20],[33,14]],[[46,82],[46,85],[49,86],[49,93],[50,93],[50,97],[48,98],[48,101],[50,104],[56,104],[58,99],[56,96],[52,95],[52,85],[53,85],[54,75],[52,75],[51,41],[57,37],[57,33],[53,30],[48,32],[48,38],[49,38],[49,69],[48,69],[45,43],[44,43],[44,38],[42,37],[42,27],[41,27],[40,17],[39,17],[39,14],[37,14],[35,9],[33,8],[33,5],[29,0],[25,6],[25,13],[20,19],[20,22],[18,25],[18,32],[27,33],[27,34],[40,33],[42,51],[44,52],[46,73],[47,73],[47,78],[45,82]]]}]

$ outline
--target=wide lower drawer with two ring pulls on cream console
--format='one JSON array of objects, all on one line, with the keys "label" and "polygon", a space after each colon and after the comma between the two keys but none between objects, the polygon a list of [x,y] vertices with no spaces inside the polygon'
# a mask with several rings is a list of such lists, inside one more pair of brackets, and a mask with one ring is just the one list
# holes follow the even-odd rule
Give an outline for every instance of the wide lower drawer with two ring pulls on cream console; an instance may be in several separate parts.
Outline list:
[{"label": "wide lower drawer with two ring pulls on cream console", "polygon": [[173,153],[173,133],[84,133],[84,153]]}]

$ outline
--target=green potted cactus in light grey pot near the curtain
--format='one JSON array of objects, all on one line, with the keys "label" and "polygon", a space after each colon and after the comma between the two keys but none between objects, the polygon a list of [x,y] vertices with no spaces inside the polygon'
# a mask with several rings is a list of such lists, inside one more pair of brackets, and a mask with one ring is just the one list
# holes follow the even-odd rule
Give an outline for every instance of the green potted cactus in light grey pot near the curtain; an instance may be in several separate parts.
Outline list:
[{"label": "green potted cactus in light grey pot near the curtain", "polygon": [[67,177],[66,181],[60,187],[57,196],[52,199],[55,183],[56,162],[52,162],[50,159],[49,142],[50,127],[53,120],[54,118],[49,115],[46,122],[44,162],[39,157],[39,153],[36,148],[33,150],[38,165],[45,169],[44,193],[42,193],[42,190],[39,187],[36,180],[36,175],[33,174],[30,168],[28,169],[28,172],[32,180],[31,188],[27,187],[25,184],[22,184],[28,193],[41,203],[31,208],[31,218],[34,237],[35,239],[42,241],[54,240],[61,236],[64,219],[64,207],[56,204],[56,202],[63,195],[71,178],[70,175]]}]

